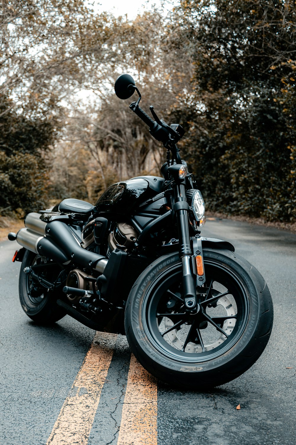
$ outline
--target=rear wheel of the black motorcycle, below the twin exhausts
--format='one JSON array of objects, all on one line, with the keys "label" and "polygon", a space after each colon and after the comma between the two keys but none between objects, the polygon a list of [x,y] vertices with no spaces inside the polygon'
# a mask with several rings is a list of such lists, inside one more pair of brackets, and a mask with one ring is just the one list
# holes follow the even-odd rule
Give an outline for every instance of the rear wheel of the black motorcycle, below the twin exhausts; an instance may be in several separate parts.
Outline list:
[{"label": "rear wheel of the black motorcycle, below the twin exhausts", "polygon": [[46,261],[45,257],[26,250],[20,269],[20,304],[26,315],[37,324],[52,324],[66,315],[66,312],[57,305],[61,291],[50,291],[34,281],[30,274],[24,273],[25,267]]}]

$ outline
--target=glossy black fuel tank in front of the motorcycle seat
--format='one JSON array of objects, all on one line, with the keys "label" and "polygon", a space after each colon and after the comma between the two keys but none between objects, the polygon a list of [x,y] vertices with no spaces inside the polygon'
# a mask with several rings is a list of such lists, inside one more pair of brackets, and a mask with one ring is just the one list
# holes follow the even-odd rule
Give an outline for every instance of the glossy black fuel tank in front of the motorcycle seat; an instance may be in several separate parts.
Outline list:
[{"label": "glossy black fuel tank in front of the motorcycle seat", "polygon": [[164,179],[138,176],[108,187],[96,202],[97,211],[127,214],[146,199],[162,192]]}]

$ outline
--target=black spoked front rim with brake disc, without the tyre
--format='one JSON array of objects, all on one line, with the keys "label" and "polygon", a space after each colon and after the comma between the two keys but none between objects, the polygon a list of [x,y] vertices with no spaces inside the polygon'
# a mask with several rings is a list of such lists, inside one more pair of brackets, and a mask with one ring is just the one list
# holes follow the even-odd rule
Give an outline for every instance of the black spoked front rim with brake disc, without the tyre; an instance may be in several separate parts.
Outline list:
[{"label": "black spoked front rim with brake disc, without the tyre", "polygon": [[205,267],[207,283],[197,288],[195,313],[185,311],[181,264],[174,278],[168,270],[166,277],[155,283],[150,299],[142,306],[151,344],[173,360],[198,363],[214,359],[227,352],[246,327],[247,291],[239,278],[214,262],[207,261]]}]

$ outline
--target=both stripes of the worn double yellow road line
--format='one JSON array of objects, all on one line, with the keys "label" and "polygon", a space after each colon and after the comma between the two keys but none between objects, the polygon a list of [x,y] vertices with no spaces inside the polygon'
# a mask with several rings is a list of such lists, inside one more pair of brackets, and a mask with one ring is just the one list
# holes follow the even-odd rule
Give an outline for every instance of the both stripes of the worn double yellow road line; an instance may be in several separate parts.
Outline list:
[{"label": "both stripes of the worn double yellow road line", "polygon": [[[117,337],[96,332],[72,386],[76,395],[66,398],[46,445],[88,443]],[[157,445],[157,383],[133,355],[117,441],[131,444]]]}]

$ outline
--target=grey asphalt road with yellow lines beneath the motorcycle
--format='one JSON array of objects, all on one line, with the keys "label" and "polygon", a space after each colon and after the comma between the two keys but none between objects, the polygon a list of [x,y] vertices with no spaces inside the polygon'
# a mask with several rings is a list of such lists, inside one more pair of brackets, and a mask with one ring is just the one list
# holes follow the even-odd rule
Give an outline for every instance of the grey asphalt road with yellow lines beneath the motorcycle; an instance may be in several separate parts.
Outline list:
[{"label": "grey asphalt road with yellow lines beneath the motorcycle", "polygon": [[295,443],[296,235],[228,220],[208,221],[202,235],[231,241],[259,269],[275,309],[260,359],[209,392],[157,382],[125,336],[69,316],[36,326],[18,301],[17,244],[0,243],[1,444]]}]

